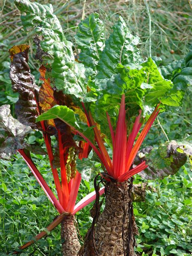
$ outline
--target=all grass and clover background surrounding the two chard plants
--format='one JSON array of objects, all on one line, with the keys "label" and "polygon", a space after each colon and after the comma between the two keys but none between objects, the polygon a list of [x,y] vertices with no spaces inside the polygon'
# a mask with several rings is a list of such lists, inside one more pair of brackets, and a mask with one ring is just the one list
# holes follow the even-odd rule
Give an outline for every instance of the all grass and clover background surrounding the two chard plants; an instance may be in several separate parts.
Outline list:
[{"label": "all grass and clover background surrounding the two chard plants", "polygon": [[[141,38],[140,48],[143,56],[162,58],[163,65],[183,58],[188,52],[192,34],[191,4],[184,1],[106,1],[106,0],[68,0],[46,1],[52,3],[58,15],[67,40],[74,43],[77,24],[82,17],[98,12],[104,21],[108,34],[119,15],[124,17],[132,34]],[[17,94],[13,94],[9,79],[8,50],[15,44],[26,43],[31,46],[29,65],[36,83],[39,84],[39,64],[36,62],[32,32],[23,31],[20,14],[12,0],[0,6],[0,105],[10,104],[14,115]],[[149,23],[151,19],[151,30]],[[78,53],[74,45],[74,52]],[[159,145],[167,140],[181,139],[190,133],[191,90],[186,93],[185,103],[177,113],[162,113],[151,128],[144,141],[145,145]],[[162,130],[163,129],[163,130]],[[165,135],[166,134],[166,135]],[[41,134],[30,134],[28,142],[42,144]],[[49,161],[35,156],[40,171],[51,187],[54,187]],[[141,183],[137,176],[135,183]],[[192,177],[188,165],[181,168],[173,177],[149,183],[145,202],[134,202],[134,213],[140,235],[137,238],[138,255],[190,255],[191,201],[190,187]],[[55,189],[55,188],[54,188]],[[82,181],[79,197],[93,191],[92,183]],[[83,237],[91,224],[89,210],[91,205],[77,213],[79,237]],[[33,175],[23,160],[17,155],[11,161],[0,160],[0,252],[11,252],[47,226],[57,213],[39,188]],[[19,235],[18,235],[19,233]],[[60,255],[60,230],[56,228],[47,239],[30,247],[22,255]]]}]

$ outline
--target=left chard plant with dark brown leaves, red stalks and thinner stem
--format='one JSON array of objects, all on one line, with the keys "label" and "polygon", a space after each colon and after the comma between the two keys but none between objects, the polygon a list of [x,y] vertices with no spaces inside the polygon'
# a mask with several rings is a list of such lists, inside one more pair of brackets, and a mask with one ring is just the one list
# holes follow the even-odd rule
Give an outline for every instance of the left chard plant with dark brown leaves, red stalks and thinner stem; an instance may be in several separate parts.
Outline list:
[{"label": "left chard plant with dark brown leaves, red stalks and thinner stem", "polygon": [[[50,79],[46,77],[47,70],[44,66],[41,66],[39,69],[43,84],[40,88],[34,84],[28,66],[28,51],[28,45],[17,45],[9,51],[11,58],[10,78],[13,90],[19,92],[19,100],[16,104],[16,115],[19,120],[11,116],[9,105],[0,107],[0,157],[10,159],[12,154],[15,154],[17,151],[19,152],[51,203],[61,214],[60,218],[53,221],[47,227],[48,230],[51,231],[62,222],[62,238],[65,240],[63,243],[65,253],[77,253],[80,244],[74,226],[74,215],[77,211],[94,201],[96,193],[88,194],[76,205],[81,182],[81,174],[76,169],[76,158],[87,158],[90,148],[88,143],[83,141],[79,141],[77,146],[77,143],[73,140],[74,134],[72,134],[70,126],[67,126],[60,119],[35,123],[35,119],[39,114],[44,113],[56,104],[66,104],[70,107],[73,106],[75,111],[79,112],[80,110],[72,104],[70,97],[65,96],[62,92],[59,95],[57,92],[54,92]],[[47,152],[41,147],[28,145],[25,142],[24,138],[32,131],[32,128],[43,132]],[[51,135],[55,135],[57,139],[59,148],[58,159],[51,145]],[[34,154],[48,154],[58,198],[38,171],[30,155],[31,152]],[[104,188],[101,188],[100,194],[103,192]],[[35,240],[45,235],[46,233],[42,232],[35,237]],[[34,239],[21,246],[19,250],[25,249],[32,243],[34,243]]]}]

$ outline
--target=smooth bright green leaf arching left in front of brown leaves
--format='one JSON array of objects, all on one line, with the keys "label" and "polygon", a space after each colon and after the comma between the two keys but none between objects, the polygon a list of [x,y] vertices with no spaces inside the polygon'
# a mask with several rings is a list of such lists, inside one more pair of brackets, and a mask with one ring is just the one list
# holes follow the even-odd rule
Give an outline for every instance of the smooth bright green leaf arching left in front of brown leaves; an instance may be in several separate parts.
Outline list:
[{"label": "smooth bright green leaf arching left in front of brown leaves", "polygon": [[81,122],[79,115],[75,114],[72,109],[69,109],[66,106],[54,106],[43,114],[39,115],[36,119],[36,122],[59,118],[65,122],[71,128],[78,130],[83,133],[85,137],[90,140],[94,140],[94,133],[91,127],[88,127],[87,124]]}]

